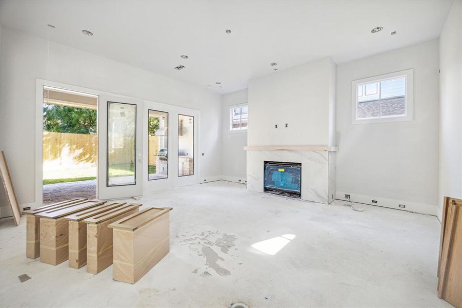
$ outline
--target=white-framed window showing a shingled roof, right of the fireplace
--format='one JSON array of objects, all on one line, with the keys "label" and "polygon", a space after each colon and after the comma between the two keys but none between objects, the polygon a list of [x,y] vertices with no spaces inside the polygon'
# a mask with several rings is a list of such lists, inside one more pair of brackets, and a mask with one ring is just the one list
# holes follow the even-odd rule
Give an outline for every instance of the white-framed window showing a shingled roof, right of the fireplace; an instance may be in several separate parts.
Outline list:
[{"label": "white-framed window showing a shingled roof, right of the fireplace", "polygon": [[413,70],[352,82],[352,124],[412,120]]}]

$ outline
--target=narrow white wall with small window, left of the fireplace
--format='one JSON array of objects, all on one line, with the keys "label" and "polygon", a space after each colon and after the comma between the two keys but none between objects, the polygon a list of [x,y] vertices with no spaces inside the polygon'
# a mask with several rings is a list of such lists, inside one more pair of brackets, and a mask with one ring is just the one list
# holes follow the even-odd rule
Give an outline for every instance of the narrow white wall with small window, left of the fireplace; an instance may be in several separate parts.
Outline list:
[{"label": "narrow white wall with small window, left of the fireplace", "polygon": [[247,130],[229,130],[229,107],[243,103],[247,103],[247,89],[222,95],[222,175],[236,182],[246,181]]}]

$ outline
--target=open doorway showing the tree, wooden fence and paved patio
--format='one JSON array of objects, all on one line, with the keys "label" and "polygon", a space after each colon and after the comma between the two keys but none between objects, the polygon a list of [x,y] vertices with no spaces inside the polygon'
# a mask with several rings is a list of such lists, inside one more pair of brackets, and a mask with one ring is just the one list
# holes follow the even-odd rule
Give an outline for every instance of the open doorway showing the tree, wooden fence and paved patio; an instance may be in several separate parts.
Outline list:
[{"label": "open doorway showing the tree, wooden fence and paved patio", "polygon": [[43,204],[97,196],[97,95],[44,87]]}]

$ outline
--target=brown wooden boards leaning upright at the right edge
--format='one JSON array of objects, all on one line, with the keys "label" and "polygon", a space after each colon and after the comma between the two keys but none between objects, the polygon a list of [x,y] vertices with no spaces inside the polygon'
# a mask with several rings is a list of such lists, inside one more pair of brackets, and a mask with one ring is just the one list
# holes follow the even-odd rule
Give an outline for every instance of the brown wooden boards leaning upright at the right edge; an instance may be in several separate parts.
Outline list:
[{"label": "brown wooden boards leaning upright at the right edge", "polygon": [[438,297],[462,307],[462,200],[445,198],[438,262]]}]

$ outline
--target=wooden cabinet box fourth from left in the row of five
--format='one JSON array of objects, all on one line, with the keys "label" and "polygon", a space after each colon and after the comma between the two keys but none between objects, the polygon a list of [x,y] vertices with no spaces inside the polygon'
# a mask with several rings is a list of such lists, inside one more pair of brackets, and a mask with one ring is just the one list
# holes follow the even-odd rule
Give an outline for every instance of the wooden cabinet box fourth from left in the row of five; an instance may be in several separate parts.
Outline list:
[{"label": "wooden cabinet box fourth from left in the row of five", "polygon": [[113,261],[113,231],[108,225],[137,213],[141,204],[124,204],[107,213],[85,219],[87,223],[87,272],[98,274]]}]

